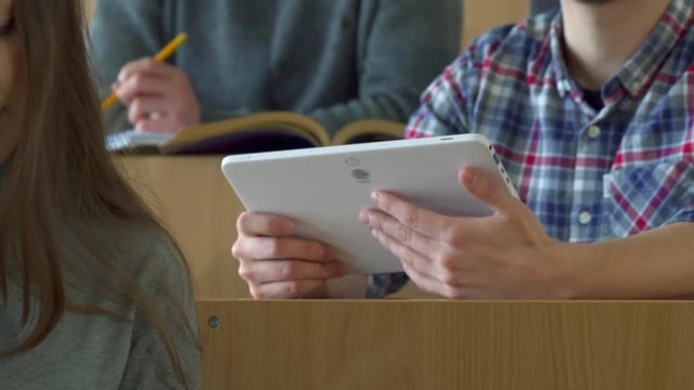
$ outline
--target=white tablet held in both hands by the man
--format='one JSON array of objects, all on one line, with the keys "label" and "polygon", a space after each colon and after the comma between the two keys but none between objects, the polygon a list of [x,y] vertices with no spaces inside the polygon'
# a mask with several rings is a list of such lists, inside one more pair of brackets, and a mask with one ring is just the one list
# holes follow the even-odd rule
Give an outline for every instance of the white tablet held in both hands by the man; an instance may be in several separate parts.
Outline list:
[{"label": "white tablet held in both hands by the man", "polygon": [[487,139],[462,134],[228,156],[222,171],[248,211],[293,219],[296,236],[331,245],[349,273],[402,270],[359,222],[376,190],[449,216],[491,209],[461,188],[463,166],[490,172],[516,195]]}]

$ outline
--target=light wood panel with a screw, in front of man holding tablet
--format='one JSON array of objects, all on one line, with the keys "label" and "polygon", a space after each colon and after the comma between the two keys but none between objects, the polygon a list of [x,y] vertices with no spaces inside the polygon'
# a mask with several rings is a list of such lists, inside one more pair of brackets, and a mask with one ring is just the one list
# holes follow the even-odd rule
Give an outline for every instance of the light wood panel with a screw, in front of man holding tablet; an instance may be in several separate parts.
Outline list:
[{"label": "light wood panel with a screw, in front of man holding tablet", "polygon": [[197,310],[205,390],[694,386],[690,302],[230,301]]}]

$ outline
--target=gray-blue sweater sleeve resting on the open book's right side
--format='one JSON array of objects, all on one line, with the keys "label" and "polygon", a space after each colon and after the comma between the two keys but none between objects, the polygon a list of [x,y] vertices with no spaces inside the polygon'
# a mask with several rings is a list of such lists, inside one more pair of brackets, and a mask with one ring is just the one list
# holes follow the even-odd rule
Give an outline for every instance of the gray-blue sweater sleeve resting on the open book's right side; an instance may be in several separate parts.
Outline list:
[{"label": "gray-blue sweater sleeve resting on the open book's right side", "polygon": [[359,16],[359,98],[311,116],[331,133],[359,119],[406,121],[460,48],[460,0],[367,0]]}]

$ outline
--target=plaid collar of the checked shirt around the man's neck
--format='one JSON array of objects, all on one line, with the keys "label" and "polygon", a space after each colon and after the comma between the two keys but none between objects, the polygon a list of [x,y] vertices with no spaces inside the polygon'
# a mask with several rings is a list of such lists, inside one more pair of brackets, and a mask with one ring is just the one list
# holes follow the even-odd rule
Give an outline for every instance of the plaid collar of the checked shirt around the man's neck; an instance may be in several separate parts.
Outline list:
[{"label": "plaid collar of the checked shirt around the man's neck", "polygon": [[[644,44],[629,58],[621,69],[603,88],[608,103],[611,96],[620,95],[622,89],[632,98],[641,96],[657,76],[663,58],[670,53],[692,25],[692,0],[672,0]],[[562,14],[557,13],[550,30],[552,66],[556,75],[560,95],[581,94],[580,88],[569,76],[564,57]],[[619,88],[621,87],[621,88]]]}]

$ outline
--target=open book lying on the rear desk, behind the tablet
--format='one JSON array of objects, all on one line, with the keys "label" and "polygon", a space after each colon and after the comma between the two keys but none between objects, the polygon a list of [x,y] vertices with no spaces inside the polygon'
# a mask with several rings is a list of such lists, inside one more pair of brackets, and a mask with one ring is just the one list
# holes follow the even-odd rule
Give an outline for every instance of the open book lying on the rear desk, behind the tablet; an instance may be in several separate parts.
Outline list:
[{"label": "open book lying on the rear desk, behind the tablet", "polygon": [[191,126],[177,134],[125,131],[110,134],[112,152],[162,154],[239,154],[401,139],[404,125],[358,120],[331,139],[316,120],[290,112],[268,112]]}]

